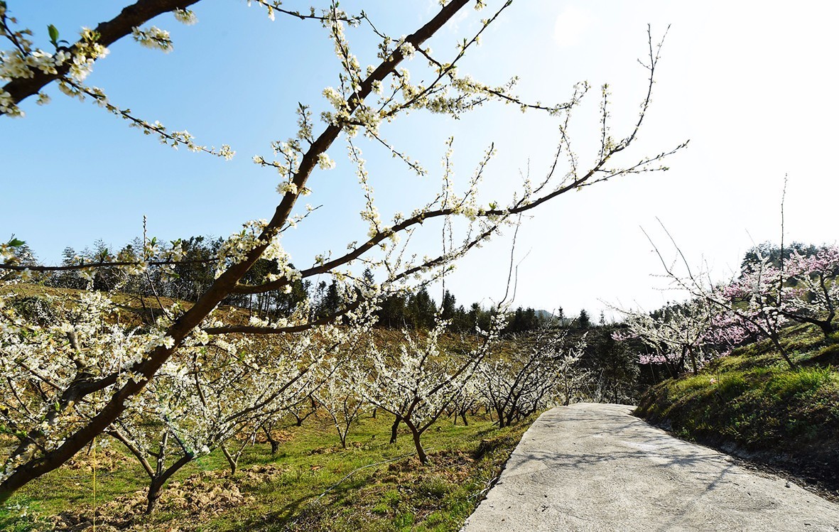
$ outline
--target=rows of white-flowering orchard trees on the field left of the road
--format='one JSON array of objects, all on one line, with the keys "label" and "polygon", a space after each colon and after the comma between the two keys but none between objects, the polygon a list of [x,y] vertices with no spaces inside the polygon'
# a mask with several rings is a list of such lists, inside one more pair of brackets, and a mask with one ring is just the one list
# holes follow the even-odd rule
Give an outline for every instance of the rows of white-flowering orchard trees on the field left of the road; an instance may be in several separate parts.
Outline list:
[{"label": "rows of white-flowering orchard trees on the field left of the road", "polygon": [[[101,292],[81,293],[76,301],[44,300],[48,310],[40,310],[39,321],[58,325],[33,327],[21,335],[4,321],[0,416],[7,434],[19,439],[28,436],[23,427],[36,425],[48,451],[107,399],[104,393],[87,394],[71,405],[74,416],[62,416],[60,402],[76,399],[56,400],[51,389],[66,388],[66,381],[79,373],[88,382],[107,373],[116,373],[117,383],[136,378],[129,373],[132,357],[142,352],[138,347],[161,342],[166,318],[149,331],[127,331]],[[545,329],[525,342],[507,342],[513,352],[499,352],[498,332],[505,321],[503,315],[494,316],[492,329],[478,330],[479,336],[469,336],[466,344],[463,338],[444,339],[448,324],[443,320],[425,337],[405,330],[404,342],[384,345],[371,334],[368,320],[311,327],[269,341],[196,337],[164,363],[94,443],[118,442],[142,467],[148,477],[147,513],[154,511],[176,472],[216,449],[235,474],[246,446],[261,431],[271,441],[275,425],[289,415],[302,423],[320,410],[346,447],[362,411],[388,412],[394,419],[391,443],[404,425],[425,463],[429,458],[421,438],[441,417],[460,416],[467,423],[467,415],[483,411],[503,427],[540,409],[587,397],[591,375],[576,367],[582,340],[572,343],[565,340],[565,330]],[[279,444],[271,443],[275,453]]]}]

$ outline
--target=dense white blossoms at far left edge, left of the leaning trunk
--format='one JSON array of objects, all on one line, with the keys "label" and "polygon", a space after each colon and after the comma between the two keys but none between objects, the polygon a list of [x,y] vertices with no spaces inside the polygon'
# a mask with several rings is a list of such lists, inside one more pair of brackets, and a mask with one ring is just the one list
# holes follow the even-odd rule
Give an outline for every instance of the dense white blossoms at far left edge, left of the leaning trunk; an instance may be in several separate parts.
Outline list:
[{"label": "dense white blossoms at far left edge, left of the leaning trunk", "polygon": [[[20,446],[3,456],[2,478],[36,454],[60,446],[102,408],[109,390],[142,378],[131,368],[150,348],[172,341],[162,331],[140,333],[115,325],[117,308],[99,292],[66,303],[47,297],[36,316],[26,319],[15,310],[14,299],[13,294],[0,295],[0,425]],[[61,399],[71,386],[109,376],[115,377],[112,384],[83,401]]]}]

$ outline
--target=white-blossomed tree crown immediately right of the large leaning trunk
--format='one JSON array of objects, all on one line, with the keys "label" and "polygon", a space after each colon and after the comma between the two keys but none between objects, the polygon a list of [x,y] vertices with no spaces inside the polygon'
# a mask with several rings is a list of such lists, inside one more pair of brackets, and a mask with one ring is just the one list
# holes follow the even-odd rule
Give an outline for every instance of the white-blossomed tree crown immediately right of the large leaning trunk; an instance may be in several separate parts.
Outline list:
[{"label": "white-blossomed tree crown immediately right of the large leaning trunk", "polygon": [[[303,321],[309,313],[301,307],[289,321]],[[221,447],[235,467],[244,445],[230,451],[234,437],[252,442],[261,427],[273,425],[327,385],[339,352],[368,331],[369,321],[351,323],[264,341],[242,336],[187,339],[130,402],[112,433],[143,465],[150,482],[162,470],[154,462],[165,462],[167,456],[173,456],[169,463],[177,459],[183,465]]]}]

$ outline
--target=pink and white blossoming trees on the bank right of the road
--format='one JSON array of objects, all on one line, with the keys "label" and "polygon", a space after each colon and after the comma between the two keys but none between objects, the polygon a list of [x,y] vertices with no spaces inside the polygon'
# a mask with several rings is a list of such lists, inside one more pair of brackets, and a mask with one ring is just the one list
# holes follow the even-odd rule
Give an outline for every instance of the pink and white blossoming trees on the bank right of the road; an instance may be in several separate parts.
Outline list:
[{"label": "pink and white blossoming trees on the bank right of the road", "polygon": [[684,276],[671,268],[667,273],[693,299],[652,313],[617,309],[624,316],[624,329],[615,337],[643,342],[647,352],[639,357],[642,363],[667,363],[696,373],[734,347],[769,340],[794,368],[795,362],[780,342],[784,327],[809,323],[827,341],[834,339],[839,304],[836,244],[753,248],[737,278],[722,284],[711,284],[690,269]]}]

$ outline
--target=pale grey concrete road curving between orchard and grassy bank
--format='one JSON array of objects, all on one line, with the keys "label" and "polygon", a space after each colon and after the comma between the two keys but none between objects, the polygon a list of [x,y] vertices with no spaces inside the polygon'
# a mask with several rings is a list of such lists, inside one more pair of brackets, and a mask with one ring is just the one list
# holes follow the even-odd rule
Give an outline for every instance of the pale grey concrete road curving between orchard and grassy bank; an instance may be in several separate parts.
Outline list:
[{"label": "pale grey concrete road curving between orchard and grassy bank", "polygon": [[541,415],[461,532],[839,532],[839,504],[631,411],[574,404]]}]

